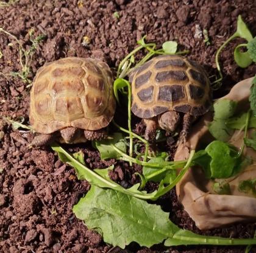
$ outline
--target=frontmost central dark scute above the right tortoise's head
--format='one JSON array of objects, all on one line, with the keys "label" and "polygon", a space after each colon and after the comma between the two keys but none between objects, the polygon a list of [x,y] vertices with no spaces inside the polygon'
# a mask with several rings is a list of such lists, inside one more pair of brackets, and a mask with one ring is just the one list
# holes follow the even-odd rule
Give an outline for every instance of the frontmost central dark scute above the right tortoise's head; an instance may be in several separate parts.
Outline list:
[{"label": "frontmost central dark scute above the right tortoise's head", "polygon": [[183,86],[181,85],[165,85],[160,87],[158,100],[164,100],[168,102],[177,101],[184,97]]}]

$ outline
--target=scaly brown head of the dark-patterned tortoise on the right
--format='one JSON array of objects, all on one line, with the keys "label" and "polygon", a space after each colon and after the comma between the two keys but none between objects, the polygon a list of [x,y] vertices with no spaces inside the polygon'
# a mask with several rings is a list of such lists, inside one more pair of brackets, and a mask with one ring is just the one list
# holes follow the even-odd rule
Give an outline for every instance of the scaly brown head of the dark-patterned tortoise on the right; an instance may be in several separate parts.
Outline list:
[{"label": "scaly brown head of the dark-patterned tortoise on the right", "polygon": [[168,132],[176,130],[180,122],[180,114],[177,111],[166,111],[166,113],[158,116],[158,124],[160,128]]}]

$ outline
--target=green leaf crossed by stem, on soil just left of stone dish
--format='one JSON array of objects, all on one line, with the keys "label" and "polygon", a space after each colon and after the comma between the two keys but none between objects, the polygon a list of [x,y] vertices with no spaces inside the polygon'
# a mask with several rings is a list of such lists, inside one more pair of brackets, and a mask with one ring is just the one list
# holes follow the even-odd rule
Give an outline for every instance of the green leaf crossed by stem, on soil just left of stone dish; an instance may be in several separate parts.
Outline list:
[{"label": "green leaf crossed by stem, on soil just left of stone dish", "polygon": [[150,159],[148,165],[143,166],[143,176],[146,181],[161,182],[163,180],[164,184],[174,181],[177,176],[176,170],[168,170],[167,166],[162,169],[151,167],[150,163],[152,162],[165,162],[165,159],[163,159],[163,156],[158,156]]}]

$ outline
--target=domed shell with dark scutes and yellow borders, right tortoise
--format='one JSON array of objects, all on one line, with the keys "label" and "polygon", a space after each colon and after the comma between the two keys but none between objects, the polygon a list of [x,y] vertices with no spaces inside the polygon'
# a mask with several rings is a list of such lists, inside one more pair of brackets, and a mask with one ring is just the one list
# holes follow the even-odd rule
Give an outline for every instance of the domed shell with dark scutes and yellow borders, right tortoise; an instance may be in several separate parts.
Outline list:
[{"label": "domed shell with dark scutes and yellow borders, right tortoise", "polygon": [[132,112],[149,119],[166,111],[199,116],[210,109],[212,94],[204,69],[179,55],[160,55],[135,69]]}]

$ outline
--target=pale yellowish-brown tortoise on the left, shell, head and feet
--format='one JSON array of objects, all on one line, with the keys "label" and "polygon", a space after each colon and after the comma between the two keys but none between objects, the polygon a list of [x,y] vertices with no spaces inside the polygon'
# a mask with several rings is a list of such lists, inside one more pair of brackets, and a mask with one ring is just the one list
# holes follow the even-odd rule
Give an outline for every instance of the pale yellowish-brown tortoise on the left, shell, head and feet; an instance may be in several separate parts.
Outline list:
[{"label": "pale yellowish-brown tortoise on the left, shell, head and feet", "polygon": [[32,145],[86,142],[107,137],[113,119],[113,77],[107,64],[68,57],[44,64],[30,92],[29,120],[40,135]]}]

